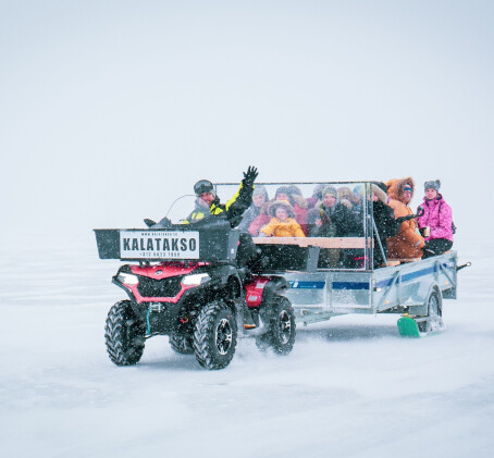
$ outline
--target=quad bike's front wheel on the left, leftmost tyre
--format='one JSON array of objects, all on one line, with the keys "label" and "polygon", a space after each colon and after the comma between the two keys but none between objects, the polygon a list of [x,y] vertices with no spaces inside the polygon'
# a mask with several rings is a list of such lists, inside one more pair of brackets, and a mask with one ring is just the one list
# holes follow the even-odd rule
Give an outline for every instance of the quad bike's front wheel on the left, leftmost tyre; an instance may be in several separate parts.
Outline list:
[{"label": "quad bike's front wheel on the left, leftmost tyre", "polygon": [[136,364],[144,352],[146,326],[132,310],[129,300],[116,302],[108,312],[104,341],[116,366]]}]

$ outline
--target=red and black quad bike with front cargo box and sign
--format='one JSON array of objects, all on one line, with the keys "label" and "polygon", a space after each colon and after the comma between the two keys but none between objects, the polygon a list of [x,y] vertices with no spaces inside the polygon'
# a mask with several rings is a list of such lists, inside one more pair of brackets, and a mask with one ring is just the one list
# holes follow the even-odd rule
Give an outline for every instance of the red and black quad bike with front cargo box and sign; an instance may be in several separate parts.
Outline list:
[{"label": "red and black quad bike with front cargo box and sign", "polygon": [[295,314],[285,280],[239,267],[239,233],[220,218],[197,224],[152,224],[148,230],[95,230],[101,259],[138,260],[112,282],[128,299],[118,301],[106,324],[108,355],[136,364],[146,341],[169,335],[178,354],[194,354],[206,369],[225,368],[237,338],[252,336],[261,349],[287,355]]}]

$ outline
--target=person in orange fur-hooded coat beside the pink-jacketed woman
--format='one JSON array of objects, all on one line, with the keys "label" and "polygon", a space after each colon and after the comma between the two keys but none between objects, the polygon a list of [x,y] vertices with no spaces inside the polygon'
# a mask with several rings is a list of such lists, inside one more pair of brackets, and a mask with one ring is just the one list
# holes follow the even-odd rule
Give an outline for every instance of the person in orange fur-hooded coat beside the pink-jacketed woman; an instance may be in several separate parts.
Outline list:
[{"label": "person in orange fur-hooded coat beside the pink-jacketed woman", "polygon": [[[390,207],[394,210],[395,218],[413,214],[408,203],[413,195],[413,180],[390,180],[386,182],[387,195],[391,198]],[[425,245],[419,234],[415,220],[405,221],[395,237],[387,239],[390,259],[421,258],[422,247]]]}]

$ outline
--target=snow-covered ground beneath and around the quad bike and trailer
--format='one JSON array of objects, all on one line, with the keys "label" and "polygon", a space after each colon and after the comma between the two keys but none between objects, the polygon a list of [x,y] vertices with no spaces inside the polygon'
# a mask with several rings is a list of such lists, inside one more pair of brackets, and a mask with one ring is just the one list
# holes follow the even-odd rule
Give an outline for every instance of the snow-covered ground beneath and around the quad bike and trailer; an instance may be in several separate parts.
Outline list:
[{"label": "snow-covered ground beneath and around the quad bike and trailer", "polygon": [[[39,239],[0,250],[0,444],[5,457],[492,457],[494,246],[459,242],[447,330],[402,339],[396,317],[299,327],[288,357],[239,342],[202,370],[166,337],[136,367],[106,355],[123,298],[92,235],[53,253]],[[49,255],[51,252],[51,255]]]}]

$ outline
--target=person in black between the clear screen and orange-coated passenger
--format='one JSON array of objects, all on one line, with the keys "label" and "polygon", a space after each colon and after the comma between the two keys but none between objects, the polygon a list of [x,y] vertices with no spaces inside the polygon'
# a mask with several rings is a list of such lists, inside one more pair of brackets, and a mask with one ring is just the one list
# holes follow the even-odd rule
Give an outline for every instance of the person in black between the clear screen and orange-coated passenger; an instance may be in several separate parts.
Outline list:
[{"label": "person in black between the clear screen and orange-coated passenger", "polygon": [[[387,237],[395,236],[398,232],[398,226],[395,220],[393,209],[387,205],[386,186],[384,183],[372,185],[372,215],[374,219],[378,234],[374,231],[374,248],[373,248],[373,267],[374,269],[383,267],[384,260],[387,259]],[[378,239],[379,235],[379,239]],[[384,251],[384,257],[381,247]]]}]

